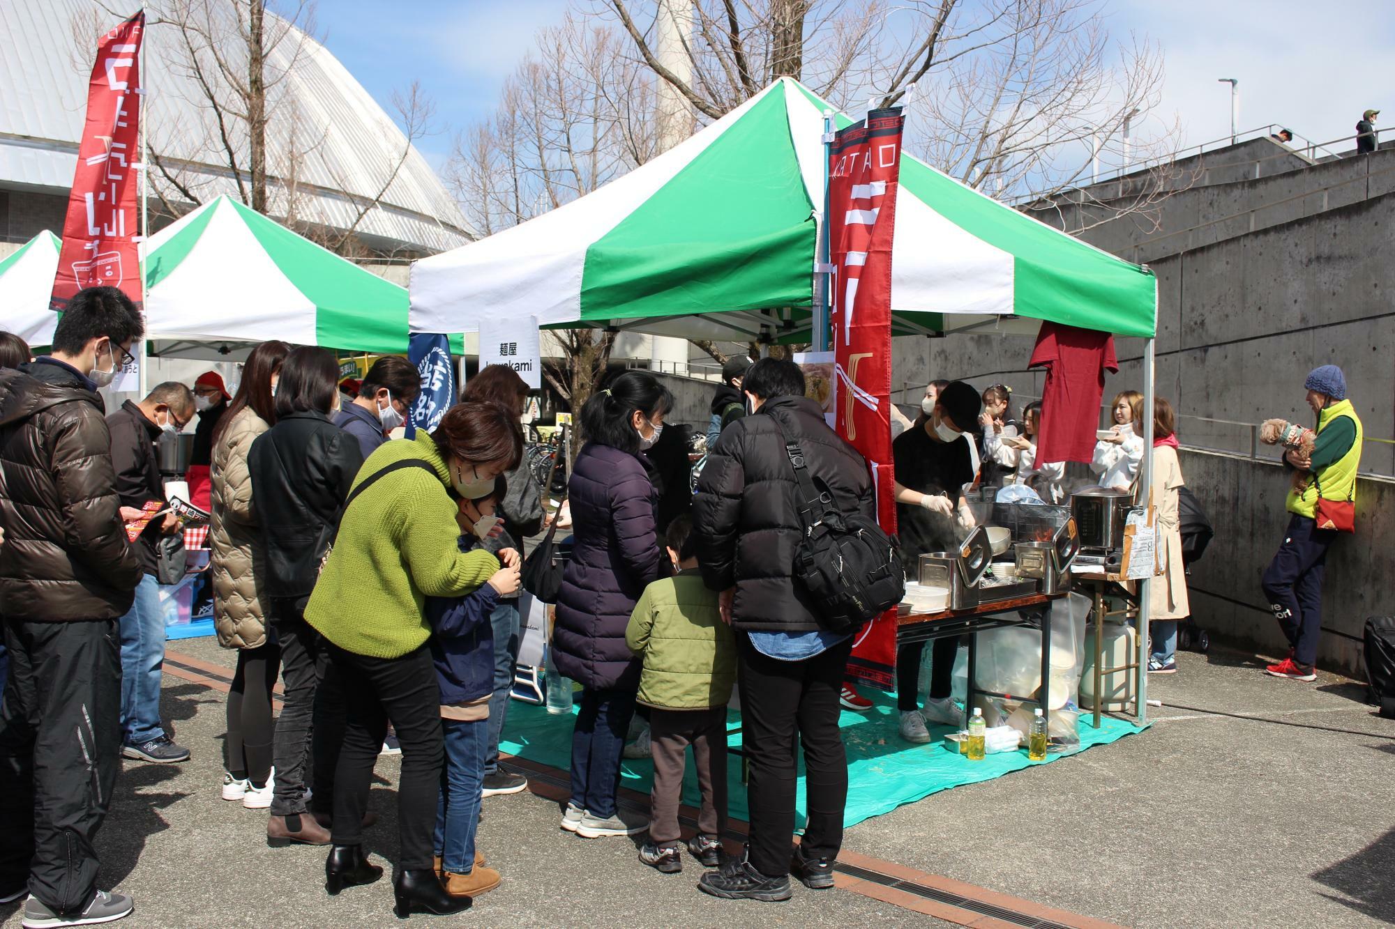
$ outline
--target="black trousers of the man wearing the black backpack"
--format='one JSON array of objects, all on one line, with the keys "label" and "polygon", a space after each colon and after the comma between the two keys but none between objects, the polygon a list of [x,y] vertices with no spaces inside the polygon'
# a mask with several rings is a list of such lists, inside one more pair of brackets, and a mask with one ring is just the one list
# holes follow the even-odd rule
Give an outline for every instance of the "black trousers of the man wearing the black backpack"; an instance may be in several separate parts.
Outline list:
[{"label": "black trousers of the man wearing the black backpack", "polygon": [[804,661],[760,654],[745,635],[737,643],[742,743],[751,763],[746,851],[756,870],[777,877],[790,873],[794,848],[795,732],[804,742],[809,813],[802,848],[810,858],[837,858],[843,847],[848,756],[838,731],[838,692],[852,639]]}]

